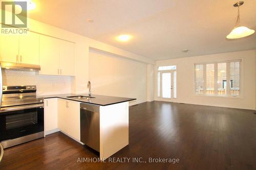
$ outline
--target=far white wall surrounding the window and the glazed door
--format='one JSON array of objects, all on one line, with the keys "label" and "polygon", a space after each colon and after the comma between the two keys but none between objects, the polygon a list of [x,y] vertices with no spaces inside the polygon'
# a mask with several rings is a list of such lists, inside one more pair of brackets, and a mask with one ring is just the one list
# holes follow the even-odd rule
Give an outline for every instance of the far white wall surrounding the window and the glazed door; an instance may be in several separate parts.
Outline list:
[{"label": "far white wall surrounding the window and the glazed door", "polygon": [[[225,61],[242,59],[243,96],[237,98],[221,98],[212,96],[198,96],[194,93],[194,64],[210,61]],[[206,56],[177,58],[157,61],[157,66],[177,65],[177,99],[174,102],[198,105],[221,106],[232,108],[255,109],[255,51],[241,51]],[[155,100],[157,98],[157,82],[155,72]]]}]

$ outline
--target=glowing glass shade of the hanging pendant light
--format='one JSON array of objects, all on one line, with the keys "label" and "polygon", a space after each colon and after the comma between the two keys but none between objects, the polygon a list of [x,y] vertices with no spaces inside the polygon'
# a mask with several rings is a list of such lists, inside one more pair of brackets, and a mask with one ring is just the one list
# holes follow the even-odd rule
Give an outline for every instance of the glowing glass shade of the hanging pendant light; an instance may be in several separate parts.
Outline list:
[{"label": "glowing glass shade of the hanging pendant light", "polygon": [[227,39],[236,39],[236,38],[243,38],[243,37],[247,37],[251,34],[253,34],[255,31],[248,29],[247,27],[237,27],[234,28],[228,35],[227,35]]}]

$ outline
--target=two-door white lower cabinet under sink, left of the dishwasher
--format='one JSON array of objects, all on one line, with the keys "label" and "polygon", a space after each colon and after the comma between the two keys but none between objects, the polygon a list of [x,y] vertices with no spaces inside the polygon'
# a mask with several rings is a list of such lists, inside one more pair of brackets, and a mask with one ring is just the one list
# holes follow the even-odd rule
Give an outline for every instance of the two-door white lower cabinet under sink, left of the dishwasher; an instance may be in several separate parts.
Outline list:
[{"label": "two-door white lower cabinet under sink, left of the dishwasher", "polygon": [[80,141],[80,103],[58,99],[58,128]]}]

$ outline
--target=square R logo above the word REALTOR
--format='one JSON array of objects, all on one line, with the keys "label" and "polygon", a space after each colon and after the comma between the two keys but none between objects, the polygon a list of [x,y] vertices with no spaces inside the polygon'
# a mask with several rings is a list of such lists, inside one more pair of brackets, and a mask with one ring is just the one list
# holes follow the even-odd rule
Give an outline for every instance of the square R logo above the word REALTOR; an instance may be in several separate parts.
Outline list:
[{"label": "square R logo above the word REALTOR", "polygon": [[27,2],[2,2],[2,28],[27,28]]}]

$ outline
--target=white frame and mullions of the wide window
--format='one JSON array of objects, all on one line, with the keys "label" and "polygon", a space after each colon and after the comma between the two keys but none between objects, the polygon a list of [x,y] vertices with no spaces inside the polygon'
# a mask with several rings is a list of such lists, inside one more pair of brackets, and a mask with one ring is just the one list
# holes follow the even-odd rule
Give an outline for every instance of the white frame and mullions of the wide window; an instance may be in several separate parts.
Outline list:
[{"label": "white frame and mullions of the wide window", "polygon": [[[240,95],[231,95],[230,94],[230,62],[240,61]],[[218,81],[218,63],[227,63],[226,66],[226,74],[227,74],[227,94],[218,94],[217,89],[217,81]],[[215,94],[206,94],[206,64],[214,64],[215,65]],[[201,62],[201,63],[194,63],[194,94],[197,96],[211,96],[211,97],[219,97],[219,98],[238,98],[243,99],[244,98],[244,59],[233,59],[233,60],[224,60],[224,61],[212,61],[212,62]],[[204,79],[204,87],[203,87],[203,94],[197,94],[196,93],[196,65],[203,65],[203,79]]]}]

